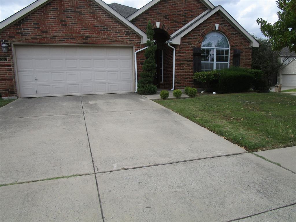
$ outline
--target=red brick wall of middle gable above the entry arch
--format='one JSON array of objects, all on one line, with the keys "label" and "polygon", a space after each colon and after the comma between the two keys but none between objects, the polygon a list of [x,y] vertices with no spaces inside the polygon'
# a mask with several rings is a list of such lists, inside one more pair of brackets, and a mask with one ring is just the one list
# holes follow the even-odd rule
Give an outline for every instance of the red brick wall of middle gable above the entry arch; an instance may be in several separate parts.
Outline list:
[{"label": "red brick wall of middle gable above the entry arch", "polygon": [[151,23],[157,21],[160,22],[160,28],[171,35],[206,10],[207,7],[197,0],[163,0],[131,22],[145,31],[148,20]]}]

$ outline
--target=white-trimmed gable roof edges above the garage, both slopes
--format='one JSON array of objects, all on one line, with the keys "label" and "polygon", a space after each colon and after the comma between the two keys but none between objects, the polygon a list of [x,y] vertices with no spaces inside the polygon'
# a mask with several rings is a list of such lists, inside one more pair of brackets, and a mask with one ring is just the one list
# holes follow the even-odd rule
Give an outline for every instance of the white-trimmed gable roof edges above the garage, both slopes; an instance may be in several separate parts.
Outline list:
[{"label": "white-trimmed gable roof edges above the garage, both slopes", "polygon": [[[41,8],[51,0],[37,0],[33,2],[32,4],[28,5],[27,7],[21,9],[19,12],[15,13],[14,15],[8,17],[7,19],[0,22],[1,31],[8,28],[10,25],[13,25],[15,22],[21,20],[22,18],[26,17],[27,15],[30,15],[32,12],[36,11],[37,9]],[[112,9],[109,5],[107,5],[102,0],[91,0],[95,4],[99,5],[102,9],[104,9],[106,12],[108,12],[110,15],[115,17],[118,21],[126,25],[128,28],[133,30],[137,35],[141,37],[141,43],[145,43],[147,41],[147,35],[142,30],[140,30],[138,27],[136,27],[133,23],[131,23],[129,20],[127,20],[125,17],[120,15],[117,11]]]}]

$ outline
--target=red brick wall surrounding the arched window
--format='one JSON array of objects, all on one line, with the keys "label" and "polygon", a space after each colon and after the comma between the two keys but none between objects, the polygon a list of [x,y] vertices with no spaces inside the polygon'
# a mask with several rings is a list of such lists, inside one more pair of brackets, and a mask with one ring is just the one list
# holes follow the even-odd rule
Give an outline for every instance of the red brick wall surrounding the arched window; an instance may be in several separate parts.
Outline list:
[{"label": "red brick wall surrounding the arched window", "polygon": [[230,43],[230,66],[233,65],[233,49],[241,50],[240,66],[251,68],[252,48],[250,42],[242,36],[226,19],[218,12],[202,22],[191,32],[181,38],[181,45],[176,46],[176,77],[175,87],[184,88],[186,86],[200,87],[194,85],[193,76],[193,48],[201,47],[205,35],[215,30],[215,23],[219,24],[221,31]]}]

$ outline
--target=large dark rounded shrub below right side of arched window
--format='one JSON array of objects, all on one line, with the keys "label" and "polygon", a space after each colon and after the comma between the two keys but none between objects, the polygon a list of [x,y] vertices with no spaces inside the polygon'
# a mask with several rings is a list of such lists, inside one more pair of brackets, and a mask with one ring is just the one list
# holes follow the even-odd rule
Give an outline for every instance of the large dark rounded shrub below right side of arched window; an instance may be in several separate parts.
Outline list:
[{"label": "large dark rounded shrub below right side of arched window", "polygon": [[243,68],[235,67],[221,71],[218,90],[220,93],[248,91],[255,80],[254,75]]}]

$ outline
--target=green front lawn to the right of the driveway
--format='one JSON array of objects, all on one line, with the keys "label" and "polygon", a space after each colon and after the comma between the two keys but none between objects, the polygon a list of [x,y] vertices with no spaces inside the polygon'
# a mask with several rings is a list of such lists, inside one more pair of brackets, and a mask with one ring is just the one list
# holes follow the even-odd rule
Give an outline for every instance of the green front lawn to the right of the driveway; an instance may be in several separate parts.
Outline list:
[{"label": "green front lawn to the right of the driveway", "polygon": [[248,151],[258,151],[296,145],[295,100],[295,96],[270,92],[155,102]]}]

